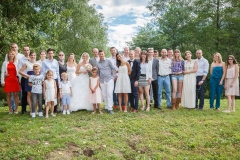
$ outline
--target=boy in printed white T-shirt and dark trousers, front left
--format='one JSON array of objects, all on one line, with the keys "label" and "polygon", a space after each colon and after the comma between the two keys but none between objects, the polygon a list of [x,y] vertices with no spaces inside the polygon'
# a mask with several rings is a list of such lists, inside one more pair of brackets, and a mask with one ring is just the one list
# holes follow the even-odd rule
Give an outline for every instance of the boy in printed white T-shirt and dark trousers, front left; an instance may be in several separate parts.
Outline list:
[{"label": "boy in printed white T-shirt and dark trousers, front left", "polygon": [[44,76],[40,74],[40,65],[33,65],[33,75],[30,75],[28,79],[28,85],[32,86],[32,118],[36,117],[35,109],[37,108],[38,102],[38,115],[39,117],[43,117],[42,112],[42,84],[44,82]]}]

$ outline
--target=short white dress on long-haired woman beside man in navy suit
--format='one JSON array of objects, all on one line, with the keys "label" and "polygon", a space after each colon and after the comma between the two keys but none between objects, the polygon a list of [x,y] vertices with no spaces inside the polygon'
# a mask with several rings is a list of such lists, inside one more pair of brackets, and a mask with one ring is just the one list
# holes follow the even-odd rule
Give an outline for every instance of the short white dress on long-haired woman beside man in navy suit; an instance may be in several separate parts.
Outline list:
[{"label": "short white dress on long-haired woman beside man in navy suit", "polygon": [[118,68],[118,78],[114,93],[131,93],[131,82],[126,64]]}]

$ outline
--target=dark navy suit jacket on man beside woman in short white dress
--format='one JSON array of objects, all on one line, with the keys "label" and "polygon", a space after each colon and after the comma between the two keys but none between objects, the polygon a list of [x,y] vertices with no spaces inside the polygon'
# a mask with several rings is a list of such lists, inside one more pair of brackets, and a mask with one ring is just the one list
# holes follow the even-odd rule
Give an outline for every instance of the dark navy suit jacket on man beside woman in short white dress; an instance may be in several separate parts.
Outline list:
[{"label": "dark navy suit jacket on man beside woman in short white dress", "polygon": [[[131,66],[130,60],[128,60],[128,63]],[[140,61],[137,60],[137,59],[134,59],[132,63],[133,63],[133,66],[132,66],[131,74],[129,75],[129,77],[130,77],[131,81],[138,81],[139,76],[141,74],[141,72],[140,72],[140,70],[141,70]]]}]

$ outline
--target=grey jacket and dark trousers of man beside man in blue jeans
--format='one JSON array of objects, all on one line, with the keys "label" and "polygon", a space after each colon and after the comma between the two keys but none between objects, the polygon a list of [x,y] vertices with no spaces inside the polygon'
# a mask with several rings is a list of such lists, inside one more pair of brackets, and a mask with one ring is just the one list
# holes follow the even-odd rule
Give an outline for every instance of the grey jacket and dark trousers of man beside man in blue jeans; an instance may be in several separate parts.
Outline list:
[{"label": "grey jacket and dark trousers of man beside man in blue jeans", "polygon": [[159,108],[159,104],[158,104],[158,71],[159,71],[159,60],[156,58],[153,58],[152,59],[152,85],[151,85],[151,87],[152,87],[152,91],[153,91],[155,108]]}]

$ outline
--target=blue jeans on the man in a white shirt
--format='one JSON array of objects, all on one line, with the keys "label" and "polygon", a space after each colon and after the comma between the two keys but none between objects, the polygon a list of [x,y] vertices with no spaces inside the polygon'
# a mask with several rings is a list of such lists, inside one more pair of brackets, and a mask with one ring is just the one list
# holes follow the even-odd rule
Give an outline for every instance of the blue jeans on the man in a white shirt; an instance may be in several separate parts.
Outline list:
[{"label": "blue jeans on the man in a white shirt", "polygon": [[162,89],[165,89],[167,106],[171,107],[171,83],[169,76],[158,76],[158,105],[162,105]]}]

